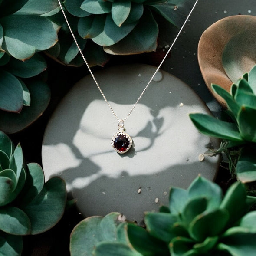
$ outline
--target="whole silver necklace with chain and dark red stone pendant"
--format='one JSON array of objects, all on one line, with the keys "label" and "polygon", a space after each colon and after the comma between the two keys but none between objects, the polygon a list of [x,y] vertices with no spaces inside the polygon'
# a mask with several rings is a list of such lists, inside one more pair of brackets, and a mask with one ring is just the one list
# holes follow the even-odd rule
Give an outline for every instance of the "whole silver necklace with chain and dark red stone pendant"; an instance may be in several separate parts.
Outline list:
[{"label": "whole silver necklace with chain and dark red stone pendant", "polygon": [[104,93],[102,92],[102,89],[100,88],[97,80],[95,79],[95,76],[93,75],[92,73],[92,70],[91,68],[89,67],[89,64],[87,62],[87,60],[85,59],[85,56],[83,55],[82,53],[82,50],[81,48],[79,47],[79,44],[77,43],[77,40],[75,38],[75,35],[71,29],[71,26],[69,25],[69,21],[67,19],[67,16],[65,14],[65,11],[64,11],[64,8],[62,6],[62,3],[60,2],[60,0],[58,0],[59,2],[59,6],[62,10],[62,13],[63,13],[63,16],[66,20],[66,23],[69,27],[69,30],[70,30],[70,33],[75,41],[75,44],[77,46],[77,48],[79,49],[79,52],[90,72],[90,74],[92,75],[92,79],[94,80],[95,84],[97,85],[100,93],[102,94],[102,97],[104,98],[105,102],[107,103],[108,107],[110,108],[112,114],[115,116],[115,118],[118,120],[118,131],[115,133],[115,135],[112,137],[111,139],[111,145],[112,145],[112,148],[117,151],[119,154],[124,154],[126,153],[130,148],[131,148],[131,145],[132,145],[132,138],[130,135],[128,135],[126,132],[125,132],[125,126],[124,126],[124,122],[125,120],[131,115],[131,112],[134,110],[134,108],[136,107],[137,103],[139,102],[139,100],[141,99],[142,95],[144,95],[144,92],[147,90],[148,88],[148,85],[151,83],[151,81],[153,80],[154,76],[156,75],[156,73],[158,72],[158,70],[160,69],[160,67],[162,66],[164,60],[166,59],[167,55],[170,53],[172,47],[174,46],[174,43],[176,42],[177,38],[180,36],[181,34],[181,31],[183,30],[185,24],[187,23],[187,20],[189,19],[191,13],[193,12],[194,8],[196,7],[197,5],[197,2],[198,0],[196,0],[196,2],[194,3],[194,6],[191,8],[190,10],[190,13],[188,14],[186,20],[184,21],[183,25],[181,26],[181,29],[179,30],[179,32],[177,33],[177,36],[175,37],[173,43],[171,44],[170,48],[168,49],[167,53],[165,54],[164,58],[162,59],[161,63],[159,64],[159,66],[157,67],[156,71],[154,72],[154,74],[151,76],[151,79],[149,79],[149,82],[148,84],[145,86],[144,90],[141,92],[141,95],[139,95],[137,101],[135,102],[135,104],[132,106],[130,112],[128,113],[128,115],[126,115],[125,118],[123,119],[120,119],[118,118],[118,116],[115,114],[113,108],[111,107],[111,105],[109,104],[107,98],[105,97]]}]

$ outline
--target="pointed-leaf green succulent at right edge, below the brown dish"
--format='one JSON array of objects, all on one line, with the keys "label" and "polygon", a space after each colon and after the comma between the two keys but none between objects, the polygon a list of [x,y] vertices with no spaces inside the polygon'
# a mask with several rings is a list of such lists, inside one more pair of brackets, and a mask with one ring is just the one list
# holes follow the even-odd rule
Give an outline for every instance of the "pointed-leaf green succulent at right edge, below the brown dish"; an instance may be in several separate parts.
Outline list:
[{"label": "pointed-leaf green succulent at right edge, below the brown dish", "polygon": [[232,85],[230,93],[219,85],[212,87],[225,100],[232,122],[200,113],[190,118],[203,134],[226,141],[219,151],[239,152],[236,175],[241,181],[256,181],[256,66]]}]

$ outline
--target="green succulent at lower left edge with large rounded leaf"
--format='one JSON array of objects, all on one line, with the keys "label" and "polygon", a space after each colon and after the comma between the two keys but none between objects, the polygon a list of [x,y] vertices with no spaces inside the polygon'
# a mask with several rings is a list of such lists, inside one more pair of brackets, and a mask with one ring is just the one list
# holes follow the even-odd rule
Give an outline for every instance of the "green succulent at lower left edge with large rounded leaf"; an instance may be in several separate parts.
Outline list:
[{"label": "green succulent at lower left edge with large rounded leaf", "polygon": [[39,164],[25,166],[20,144],[15,148],[0,131],[0,255],[21,255],[22,236],[49,230],[65,205],[65,182],[53,177],[45,183]]}]

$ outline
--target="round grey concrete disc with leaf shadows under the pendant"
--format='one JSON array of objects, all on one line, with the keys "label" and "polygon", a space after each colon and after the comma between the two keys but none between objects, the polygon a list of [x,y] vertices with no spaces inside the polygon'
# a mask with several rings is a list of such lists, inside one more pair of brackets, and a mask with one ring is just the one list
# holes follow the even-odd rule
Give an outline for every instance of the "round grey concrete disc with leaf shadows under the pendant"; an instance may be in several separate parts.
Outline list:
[{"label": "round grey concrete disc with leaf shadows under the pendant", "polygon": [[[129,65],[95,73],[118,118],[126,117],[155,70]],[[118,154],[111,146],[118,121],[88,75],[63,98],[46,128],[46,180],[62,177],[85,217],[117,211],[141,223],[145,211],[168,205],[170,187],[187,188],[198,174],[216,176],[219,157],[202,154],[217,148],[218,140],[197,131],[192,112],[209,110],[184,82],[159,71],[125,121],[133,146]]]}]

